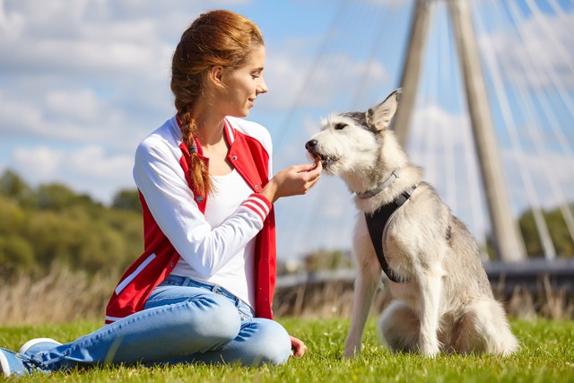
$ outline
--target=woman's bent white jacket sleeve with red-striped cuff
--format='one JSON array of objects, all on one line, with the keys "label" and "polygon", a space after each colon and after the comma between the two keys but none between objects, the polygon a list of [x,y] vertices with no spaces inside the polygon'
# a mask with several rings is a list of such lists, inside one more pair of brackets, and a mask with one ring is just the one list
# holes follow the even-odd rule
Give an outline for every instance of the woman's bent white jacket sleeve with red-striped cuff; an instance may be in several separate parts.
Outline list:
[{"label": "woman's bent white jacket sleeve with red-striped cuff", "polygon": [[263,228],[271,203],[253,194],[218,227],[205,221],[179,164],[181,152],[148,137],[135,152],[134,179],[161,231],[205,278],[217,272]]}]

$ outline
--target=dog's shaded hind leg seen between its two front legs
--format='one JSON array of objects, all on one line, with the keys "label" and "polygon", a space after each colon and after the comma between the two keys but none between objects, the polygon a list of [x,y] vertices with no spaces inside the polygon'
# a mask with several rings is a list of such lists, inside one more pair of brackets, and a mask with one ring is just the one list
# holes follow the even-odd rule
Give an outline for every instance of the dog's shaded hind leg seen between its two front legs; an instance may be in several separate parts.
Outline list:
[{"label": "dog's shaded hind leg seen between its two front legs", "polygon": [[378,320],[378,337],[390,351],[418,351],[421,321],[403,300],[393,300]]}]

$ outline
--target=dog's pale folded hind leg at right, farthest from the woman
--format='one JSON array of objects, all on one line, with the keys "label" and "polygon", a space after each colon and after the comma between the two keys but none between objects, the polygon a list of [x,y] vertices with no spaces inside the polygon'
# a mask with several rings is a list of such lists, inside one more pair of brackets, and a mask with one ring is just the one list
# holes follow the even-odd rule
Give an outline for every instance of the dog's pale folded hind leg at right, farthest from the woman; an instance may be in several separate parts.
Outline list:
[{"label": "dog's pale folded hind leg at right, farthest from the woman", "polygon": [[457,340],[453,344],[459,353],[495,353],[509,355],[518,349],[506,313],[496,300],[477,300],[460,320]]}]

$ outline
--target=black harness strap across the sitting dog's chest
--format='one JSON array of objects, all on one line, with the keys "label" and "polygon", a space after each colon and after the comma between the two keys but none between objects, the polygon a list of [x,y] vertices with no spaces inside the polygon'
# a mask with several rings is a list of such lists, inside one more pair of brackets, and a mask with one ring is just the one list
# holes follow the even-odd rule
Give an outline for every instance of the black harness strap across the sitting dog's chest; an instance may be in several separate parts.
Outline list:
[{"label": "black harness strap across the sitting dog's chest", "polygon": [[376,212],[365,213],[367,228],[369,229],[370,241],[373,243],[373,247],[377,253],[378,263],[380,264],[385,274],[387,274],[388,279],[396,283],[407,282],[408,278],[405,279],[396,275],[388,265],[383,249],[383,235],[385,228],[387,227],[388,222],[390,222],[393,214],[398,210],[399,207],[404,205],[404,203],[409,200],[409,198],[413,195],[415,188],[416,186],[406,189],[403,193],[397,196],[393,202],[379,207]]}]

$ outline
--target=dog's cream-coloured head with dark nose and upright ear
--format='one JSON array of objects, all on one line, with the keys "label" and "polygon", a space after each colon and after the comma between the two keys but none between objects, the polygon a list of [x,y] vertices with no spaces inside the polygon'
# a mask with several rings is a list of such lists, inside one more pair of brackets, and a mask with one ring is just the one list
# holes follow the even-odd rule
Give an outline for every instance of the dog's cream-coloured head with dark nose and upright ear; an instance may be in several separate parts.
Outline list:
[{"label": "dog's cream-coloured head with dark nose and upright ear", "polygon": [[320,157],[327,173],[345,176],[370,171],[380,161],[386,128],[395,115],[400,89],[366,112],[347,112],[326,118],[321,131],[305,144],[309,155]]}]

